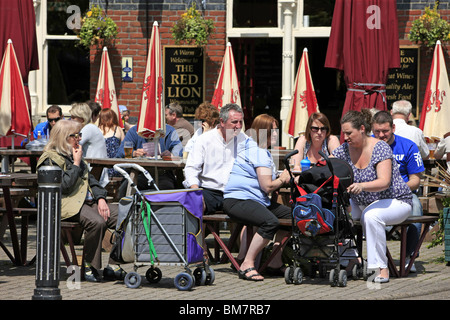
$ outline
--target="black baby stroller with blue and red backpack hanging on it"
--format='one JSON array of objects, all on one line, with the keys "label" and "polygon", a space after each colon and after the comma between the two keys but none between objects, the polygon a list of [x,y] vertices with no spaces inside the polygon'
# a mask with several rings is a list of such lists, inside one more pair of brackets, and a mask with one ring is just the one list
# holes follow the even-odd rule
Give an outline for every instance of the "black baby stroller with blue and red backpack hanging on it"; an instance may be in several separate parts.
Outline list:
[{"label": "black baby stroller with blue and red backpack hanging on it", "polygon": [[301,284],[303,270],[307,267],[311,277],[326,277],[330,269],[331,286],[345,287],[347,271],[342,265],[360,258],[352,269],[352,277],[364,276],[364,260],[356,248],[356,232],[346,211],[349,196],[346,189],[353,183],[352,168],[345,161],[328,158],[311,169],[303,171],[298,180],[289,169],[289,158],[298,150],[286,155],[284,162],[291,174],[292,249],[293,263],[286,269],[287,284]]}]

